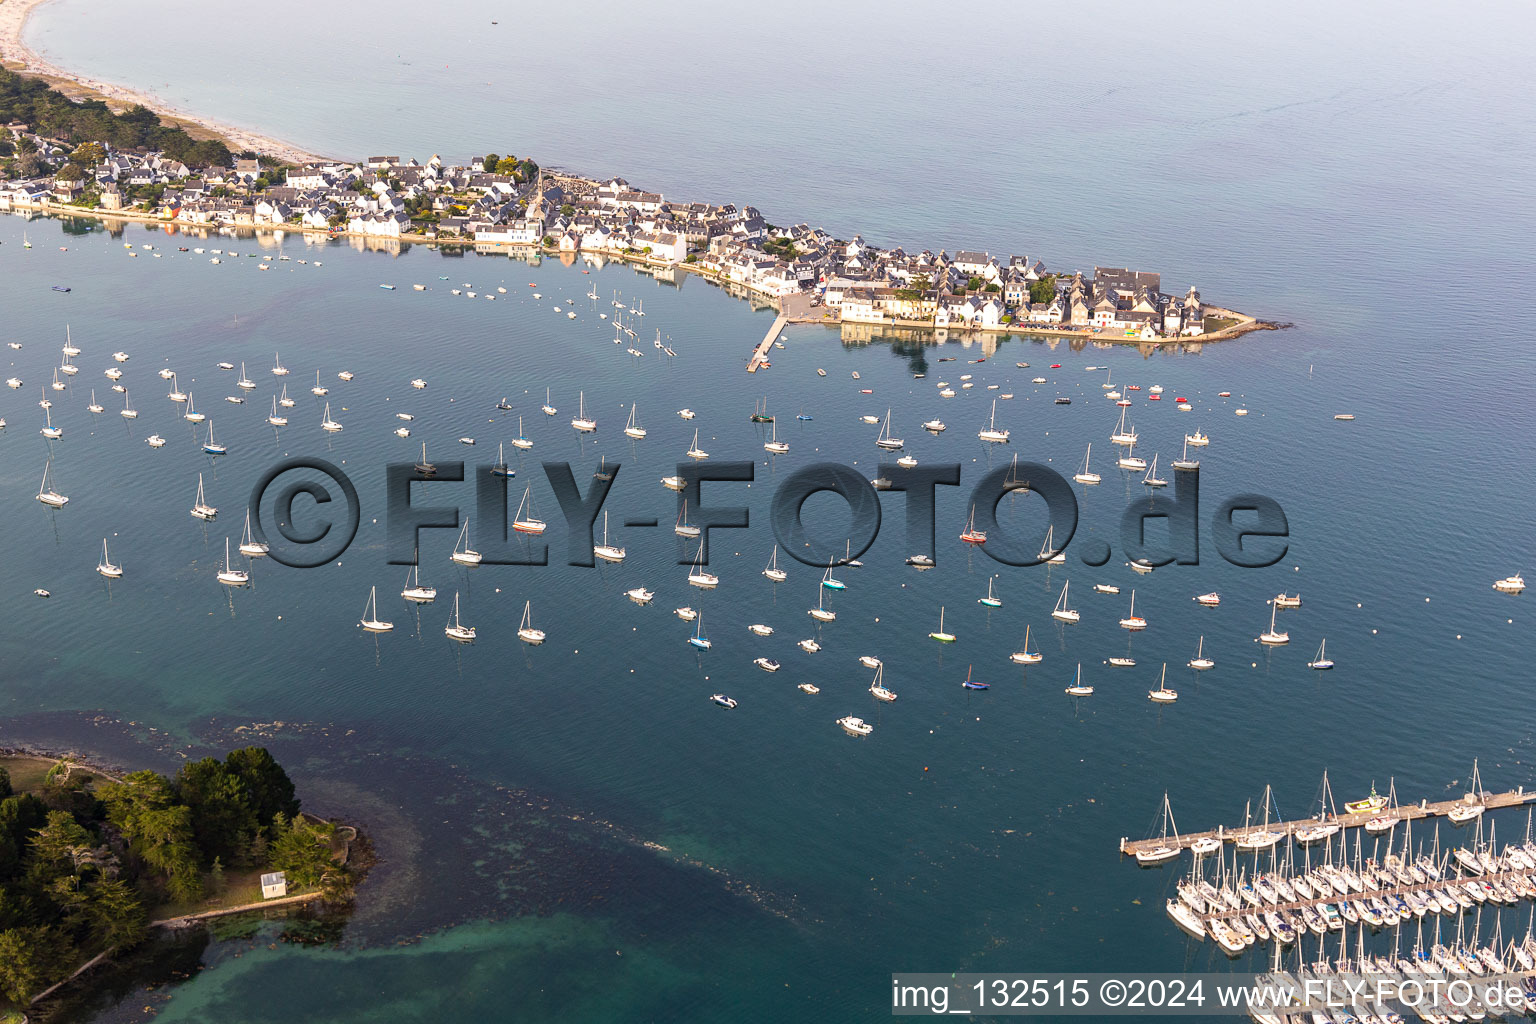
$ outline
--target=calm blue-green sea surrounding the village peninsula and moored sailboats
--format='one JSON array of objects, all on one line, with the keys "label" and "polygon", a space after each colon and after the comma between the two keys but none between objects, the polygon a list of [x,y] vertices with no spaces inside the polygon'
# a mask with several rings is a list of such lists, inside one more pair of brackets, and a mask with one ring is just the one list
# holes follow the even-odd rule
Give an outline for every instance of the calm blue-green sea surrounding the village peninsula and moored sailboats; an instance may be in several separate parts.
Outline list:
[{"label": "calm blue-green sea surrounding the village peninsula and moored sailboats", "polygon": [[[287,38],[295,12],[280,5],[258,31]],[[1448,795],[1473,757],[1491,788],[1536,781],[1519,715],[1527,603],[1488,586],[1530,568],[1536,499],[1519,457],[1536,398],[1522,259],[1536,220],[1531,141],[1507,130],[1528,114],[1508,68],[1530,25],[1513,12],[1495,15],[1499,31],[1488,32],[1427,9],[1329,9],[1324,31],[1321,9],[1281,26],[1224,8],[1166,9],[1147,31],[1167,52],[1144,60],[1046,45],[1077,38],[1066,12],[1009,9],[937,61],[915,51],[932,37],[928,15],[874,12],[786,5],[748,25],[717,8],[616,6],[593,52],[622,43],[633,60],[573,66],[536,43],[561,25],[527,20],[554,15],[467,5],[462,18],[482,20],[492,41],[421,34],[410,52],[364,38],[361,49],[304,54],[255,40],[260,60],[238,71],[227,54],[158,46],[163,25],[132,12],[80,0],[38,12],[29,38],[61,63],[154,84],[189,109],[324,152],[528,152],[876,241],[989,246],[1063,269],[1160,269],[1166,287],[1195,282],[1213,301],[1298,324],[1155,355],[1011,339],[975,365],[966,361],[991,345],[917,353],[799,327],[770,372],[748,376],[743,353],[770,313],[700,281],[296,239],[283,244],[293,261],[258,272],[244,255],[212,266],[178,253],[174,238],[140,226],[117,238],[34,221],[25,227],[34,249],[23,250],[23,224],[0,221],[5,332],[25,344],[3,356],[25,387],[0,393],[9,424],[0,479],[12,508],[0,536],[11,582],[0,712],[100,708],[183,738],[210,715],[336,723],[359,742],[473,766],[668,847],[656,852],[665,883],[647,875],[624,900],[404,949],[223,960],[180,987],[164,1015],[468,1019],[515,1004],[535,1019],[865,1019],[885,1015],[891,970],[1180,969],[1220,958],[1186,944],[1163,915],[1172,872],[1137,872],[1115,852],[1121,835],[1146,832],[1164,789],[1192,829],[1240,820],[1266,783],[1283,812],[1304,814],[1324,768],[1349,797],[1389,777],[1407,798]],[[725,72],[710,60],[722,46],[756,52],[762,38],[774,40],[774,55],[760,64],[725,61]],[[954,100],[915,100],[935,91]],[[935,120],[966,127],[940,144],[951,132]],[[163,258],[129,258],[123,241],[155,244]],[[252,241],[206,244],[257,252]],[[74,290],[54,293],[55,282]],[[464,282],[507,293],[453,298],[449,289]],[[602,302],[585,298],[591,287]],[[611,321],[599,318],[611,316],[614,290],[644,299],[641,359],[613,345]],[[550,309],[567,298],[576,321]],[[38,387],[66,322],[84,353],[69,390],[49,393],[65,428],[49,445],[34,433]],[[650,347],[657,329],[676,359]],[[117,348],[132,353],[134,424],[115,416],[121,399],[101,376]],[[275,352],[300,399],[276,433],[264,422]],[[235,375],[215,368],[221,359],[244,361],[258,381],[246,405],[223,401]],[[163,398],[161,365],[181,372],[229,456],[200,453]],[[1273,496],[1292,527],[1286,559],[1236,570],[1206,537],[1200,567],[1138,577],[1120,557],[1089,570],[1069,556],[1064,571],[1046,571],[963,551],[965,491],[986,467],[1017,451],[1071,474],[1092,442],[1104,484],[1077,488],[1081,530],[1118,553],[1118,516],[1144,488],[1112,467],[1118,410],[1101,398],[1103,372],[1086,365],[1190,398],[1193,411],[1180,413],[1141,391],[1132,418],[1143,448],[1166,461],[1201,427],[1212,436],[1201,453],[1204,514],[1227,494]],[[336,381],[343,368],[356,379]],[[316,370],[346,427],[335,436],[319,430],[321,404],[307,393]],[[935,384],[960,373],[977,387],[937,398]],[[1048,384],[1029,384],[1035,375]],[[416,376],[427,390],[409,387]],[[108,407],[100,418],[84,408],[92,385]],[[538,411],[545,387],[553,419]],[[568,427],[578,391],[599,421],[596,441]],[[1015,398],[998,404],[1014,431],[1000,451],[975,430],[1001,391]],[[1074,404],[1054,405],[1057,395]],[[501,396],[518,408],[495,410]],[[774,464],[746,422],[763,396],[791,444]],[[621,434],[630,402],[650,430],[644,442]],[[676,418],[682,407],[699,418]],[[1250,415],[1233,416],[1238,407]],[[962,462],[966,488],[940,491],[940,568],[926,574],[900,565],[905,519],[886,500],[880,540],[865,568],[842,573],[849,590],[833,597],[837,622],[808,656],[794,643],[813,633],[805,611],[817,574],[790,565],[777,588],[759,576],[773,487],[823,457],[872,470],[876,428],[857,418],[886,408],[920,461]],[[1335,422],[1344,410],[1358,419]],[[392,434],[396,411],[416,416],[409,441]],[[814,419],[796,421],[800,411]],[[538,461],[594,467],[607,456],[624,467],[614,520],[654,514],[662,527],[617,531],[627,562],[594,570],[562,565],[561,527],[548,534],[553,565],[473,571],[449,562],[452,531],[432,531],[422,576],[442,597],[418,620],[398,600],[404,571],[384,563],[384,464],[415,457],[419,441],[436,459],[490,461],[519,413],[536,447],[516,462],[513,500],[533,479],[553,522]],[[940,438],[919,430],[935,415],[949,424]],[[716,537],[722,585],[708,594],[684,585],[685,553],[665,528],[673,496],[656,484],[694,427],[714,459],[759,464],[750,490],[719,485],[711,497],[750,505],[754,528]],[[152,431],[169,444],[151,450]],[[462,434],[479,444],[461,448]],[[58,513],[32,500],[51,453],[72,499]],[[252,590],[226,593],[212,574],[224,537],[238,540],[233,510],[286,454],[321,454],[353,474],[358,540],[319,570],[258,563]],[[206,527],[187,516],[198,471],[224,510]],[[468,484],[432,490],[472,508]],[[811,508],[828,533],[840,530],[829,502]],[[1005,514],[1020,530],[1038,524],[1025,499]],[[111,586],[94,573],[103,536],[127,573]],[[988,613],[977,599],[994,573],[1003,606]],[[1049,609],[1066,579],[1083,623],[1061,628]],[[1123,594],[1092,594],[1095,582]],[[637,583],[657,591],[653,606],[622,597]],[[382,617],[396,623],[378,640],[355,625],[375,585]],[[32,597],[34,586],[54,597]],[[1127,639],[1115,620],[1132,586],[1150,628]],[[1266,599],[1298,588],[1304,606],[1284,613],[1292,645],[1260,651]],[[472,648],[441,634],[455,590],[481,631]],[[1190,596],[1209,590],[1221,591],[1221,608],[1195,608]],[[550,633],[538,649],[513,636],[528,599]],[[714,649],[702,657],[670,614],[680,603],[705,611]],[[958,634],[952,646],[925,639],[940,606]],[[753,637],[753,622],[777,633]],[[1008,663],[1026,623],[1046,654],[1028,672]],[[1218,668],[1197,680],[1175,666],[1200,636]],[[1324,636],[1339,668],[1309,672]],[[1103,665],[1127,648],[1137,668]],[[865,652],[886,660],[895,705],[865,692],[869,674],[856,660]],[[753,668],[759,654],[783,671]],[[1144,691],[1164,660],[1181,695],[1157,709]],[[1098,692],[1074,706],[1061,688],[1078,662]],[[968,668],[992,689],[963,691]],[[802,680],[822,694],[796,691]],[[720,689],[742,706],[713,708],[707,695]],[[842,735],[833,720],[849,712],[871,720],[874,735]],[[1511,815],[1501,832],[1522,827]]]}]

